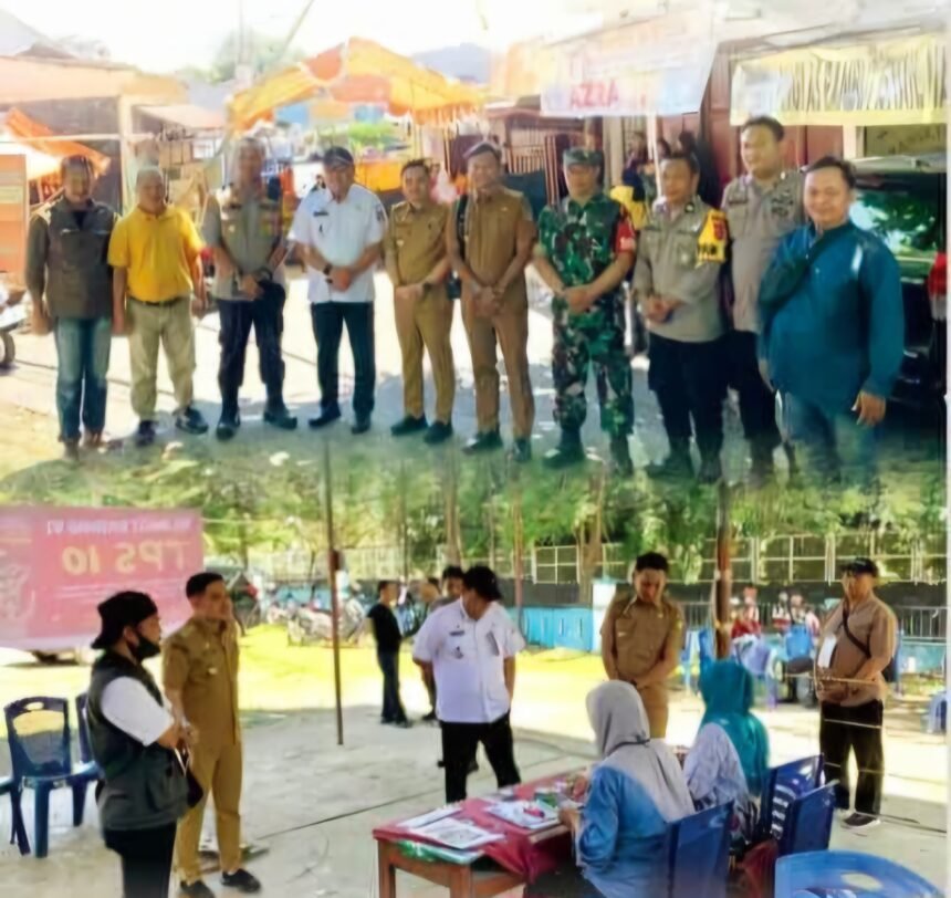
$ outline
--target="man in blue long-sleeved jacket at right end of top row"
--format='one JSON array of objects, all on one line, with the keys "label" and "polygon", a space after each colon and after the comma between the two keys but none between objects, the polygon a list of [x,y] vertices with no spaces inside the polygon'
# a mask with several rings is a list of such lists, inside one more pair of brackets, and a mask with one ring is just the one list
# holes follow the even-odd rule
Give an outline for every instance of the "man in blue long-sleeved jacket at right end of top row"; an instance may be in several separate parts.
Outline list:
[{"label": "man in blue long-sleeved jacket at right end of top row", "polygon": [[783,240],[761,288],[760,359],[783,394],[805,470],[868,483],[901,367],[905,311],[895,257],[849,218],[855,186],[853,167],[833,156],[807,169],[811,223]]}]

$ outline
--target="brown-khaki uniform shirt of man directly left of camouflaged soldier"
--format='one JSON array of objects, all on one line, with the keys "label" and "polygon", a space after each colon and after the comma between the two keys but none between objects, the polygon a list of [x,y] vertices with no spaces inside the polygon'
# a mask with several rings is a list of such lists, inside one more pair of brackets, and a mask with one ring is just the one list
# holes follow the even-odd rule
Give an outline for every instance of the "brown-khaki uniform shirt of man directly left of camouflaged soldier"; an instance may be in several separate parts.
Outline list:
[{"label": "brown-khaki uniform shirt of man directly left of camouflaged soldier", "polygon": [[[453,228],[457,209],[453,205]],[[518,253],[519,228],[523,221],[532,222],[534,218],[529,200],[518,190],[502,187],[488,196],[473,194],[469,197],[462,221],[462,257],[480,283],[495,284],[505,273]],[[515,278],[502,297],[503,303],[510,301],[527,303],[524,274]]]}]

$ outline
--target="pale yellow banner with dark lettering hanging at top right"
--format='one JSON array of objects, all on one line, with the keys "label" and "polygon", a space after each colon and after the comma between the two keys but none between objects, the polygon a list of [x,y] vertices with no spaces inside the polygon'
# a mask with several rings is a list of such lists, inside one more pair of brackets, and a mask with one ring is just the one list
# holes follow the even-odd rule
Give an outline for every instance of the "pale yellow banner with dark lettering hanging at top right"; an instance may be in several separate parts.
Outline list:
[{"label": "pale yellow banner with dark lettering hanging at top right", "polygon": [[730,122],[769,114],[786,125],[929,125],[947,122],[942,32],[818,44],[738,60]]}]

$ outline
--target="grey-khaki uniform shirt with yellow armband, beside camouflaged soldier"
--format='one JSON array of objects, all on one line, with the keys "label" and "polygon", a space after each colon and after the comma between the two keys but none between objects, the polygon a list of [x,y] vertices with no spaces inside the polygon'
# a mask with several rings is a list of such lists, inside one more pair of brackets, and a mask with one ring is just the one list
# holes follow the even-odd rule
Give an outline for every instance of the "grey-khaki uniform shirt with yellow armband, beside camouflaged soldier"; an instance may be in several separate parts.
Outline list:
[{"label": "grey-khaki uniform shirt with yellow armband, beside camouflaged soldier", "polygon": [[717,282],[727,260],[727,221],[702,200],[673,212],[655,203],[644,230],[634,270],[634,290],[645,302],[657,295],[679,300],[662,323],[649,321],[650,333],[683,343],[707,343],[723,333]]}]

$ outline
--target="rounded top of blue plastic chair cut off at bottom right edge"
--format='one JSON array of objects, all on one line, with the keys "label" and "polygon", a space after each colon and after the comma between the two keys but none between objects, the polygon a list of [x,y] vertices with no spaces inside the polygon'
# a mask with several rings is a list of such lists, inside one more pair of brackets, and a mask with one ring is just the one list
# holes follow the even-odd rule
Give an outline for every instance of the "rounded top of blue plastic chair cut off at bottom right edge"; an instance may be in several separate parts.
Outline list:
[{"label": "rounded top of blue plastic chair cut off at bottom right edge", "polygon": [[[849,876],[874,881],[858,885]],[[941,889],[899,864],[858,852],[808,852],[781,857],[775,898],[944,898]]]}]

